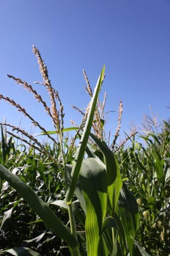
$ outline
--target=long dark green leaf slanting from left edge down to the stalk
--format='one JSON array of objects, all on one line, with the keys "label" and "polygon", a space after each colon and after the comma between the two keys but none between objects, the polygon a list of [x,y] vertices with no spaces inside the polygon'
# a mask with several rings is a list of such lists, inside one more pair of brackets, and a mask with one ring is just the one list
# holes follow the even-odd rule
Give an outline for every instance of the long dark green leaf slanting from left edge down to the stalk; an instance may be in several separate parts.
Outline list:
[{"label": "long dark green leaf slanting from left edge down to the stalk", "polygon": [[19,177],[8,171],[0,164],[0,177],[4,178],[15,190],[17,190],[21,197],[23,197],[34,210],[37,215],[46,223],[46,225],[54,231],[54,233],[60,236],[70,248],[74,249],[78,247],[76,239],[71,235],[69,230],[61,223],[59,218],[50,209],[44,201],[34,193]]}]

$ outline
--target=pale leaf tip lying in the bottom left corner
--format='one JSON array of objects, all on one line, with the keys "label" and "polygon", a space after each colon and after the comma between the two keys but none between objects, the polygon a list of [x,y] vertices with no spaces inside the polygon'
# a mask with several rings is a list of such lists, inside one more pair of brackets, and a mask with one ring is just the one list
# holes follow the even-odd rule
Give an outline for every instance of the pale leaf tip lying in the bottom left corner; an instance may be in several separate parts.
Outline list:
[{"label": "pale leaf tip lying in the bottom left corner", "polygon": [[1,253],[9,253],[14,256],[41,256],[41,254],[26,247],[16,247],[13,249],[7,249],[7,250],[1,251],[0,254]]}]

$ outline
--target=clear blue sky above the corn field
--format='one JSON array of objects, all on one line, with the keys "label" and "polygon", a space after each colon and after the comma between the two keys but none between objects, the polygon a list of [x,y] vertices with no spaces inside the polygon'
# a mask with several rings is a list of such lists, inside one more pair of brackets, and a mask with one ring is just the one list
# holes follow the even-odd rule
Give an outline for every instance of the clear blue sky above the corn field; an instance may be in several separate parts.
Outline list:
[{"label": "clear blue sky above the corn field", "polygon": [[[131,120],[141,124],[149,105],[159,118],[170,117],[170,0],[0,0],[0,94],[25,107],[47,130],[50,119],[31,94],[6,74],[32,84],[41,80],[32,45],[48,66],[52,85],[59,91],[69,119],[81,117],[71,105],[89,102],[82,68],[94,88],[102,66],[106,79],[106,110],[124,104],[122,131]],[[34,85],[48,102],[42,85]],[[19,125],[21,113],[0,101],[0,120]],[[115,132],[118,112],[110,114],[108,128]],[[30,130],[22,118],[21,127]],[[37,131],[36,131],[37,132]]]}]

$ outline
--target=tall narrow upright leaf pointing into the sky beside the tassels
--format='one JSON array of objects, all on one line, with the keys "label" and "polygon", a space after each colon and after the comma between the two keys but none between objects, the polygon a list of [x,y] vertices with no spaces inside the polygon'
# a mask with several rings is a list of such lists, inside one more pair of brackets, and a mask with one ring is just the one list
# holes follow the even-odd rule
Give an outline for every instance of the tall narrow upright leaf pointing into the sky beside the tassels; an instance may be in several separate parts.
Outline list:
[{"label": "tall narrow upright leaf pointing into the sky beside the tassels", "polygon": [[99,79],[97,81],[97,84],[95,86],[93,98],[91,99],[91,103],[90,103],[90,106],[89,106],[86,125],[85,125],[84,131],[82,133],[82,138],[81,138],[81,140],[78,144],[77,150],[76,150],[76,156],[75,156],[73,168],[72,168],[72,171],[71,171],[71,178],[69,180],[69,187],[68,187],[68,190],[67,190],[67,193],[66,193],[66,202],[67,203],[71,203],[72,198],[73,198],[73,194],[75,192],[76,182],[77,182],[77,178],[78,178],[79,173],[80,173],[82,160],[83,160],[83,157],[84,157],[84,152],[86,150],[86,146],[87,146],[87,143],[88,143],[88,137],[89,137],[92,122],[93,122],[94,111],[95,111],[95,107],[96,107],[96,103],[97,103],[98,94],[99,94],[99,91],[100,91],[100,88],[101,88],[101,82],[102,82],[103,77],[104,77],[104,72],[105,72],[105,66],[103,67],[103,69],[101,71],[101,74],[99,76]]}]

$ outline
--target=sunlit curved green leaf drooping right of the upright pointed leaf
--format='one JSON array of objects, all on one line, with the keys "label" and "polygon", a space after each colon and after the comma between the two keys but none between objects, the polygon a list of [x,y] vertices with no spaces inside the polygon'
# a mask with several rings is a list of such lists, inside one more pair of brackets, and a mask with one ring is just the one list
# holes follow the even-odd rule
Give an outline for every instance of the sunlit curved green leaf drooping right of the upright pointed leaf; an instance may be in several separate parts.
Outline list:
[{"label": "sunlit curved green leaf drooping right of the upright pointed leaf", "polygon": [[107,211],[110,215],[114,214],[116,204],[118,202],[120,189],[122,187],[122,178],[120,175],[119,164],[116,156],[107,147],[107,145],[99,140],[92,132],[90,132],[91,138],[98,145],[103,155],[105,156],[106,171],[107,171]]}]

